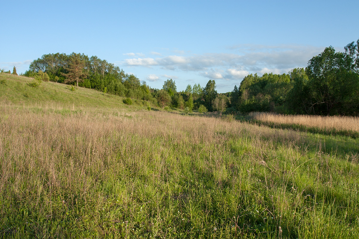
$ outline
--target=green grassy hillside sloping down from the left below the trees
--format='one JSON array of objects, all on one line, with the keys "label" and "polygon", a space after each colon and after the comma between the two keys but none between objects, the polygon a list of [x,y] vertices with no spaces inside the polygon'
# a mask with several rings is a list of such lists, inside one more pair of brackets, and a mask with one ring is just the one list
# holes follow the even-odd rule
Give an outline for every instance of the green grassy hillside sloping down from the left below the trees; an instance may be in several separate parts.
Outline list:
[{"label": "green grassy hillside sloping down from the left below the trees", "polygon": [[0,102],[25,105],[57,105],[61,108],[86,109],[98,107],[98,110],[138,110],[145,109],[145,102],[133,100],[134,106],[123,104],[122,97],[104,94],[92,89],[78,87],[71,91],[69,85],[55,82],[42,82],[31,87],[32,78],[0,73]]}]

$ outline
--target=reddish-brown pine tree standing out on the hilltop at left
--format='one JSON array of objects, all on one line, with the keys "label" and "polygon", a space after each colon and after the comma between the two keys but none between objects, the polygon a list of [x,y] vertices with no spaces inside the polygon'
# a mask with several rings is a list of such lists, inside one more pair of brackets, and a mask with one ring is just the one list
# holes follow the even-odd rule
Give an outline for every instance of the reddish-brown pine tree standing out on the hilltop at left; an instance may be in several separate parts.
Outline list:
[{"label": "reddish-brown pine tree standing out on the hilltop at left", "polygon": [[65,68],[65,71],[68,73],[62,73],[66,77],[65,83],[76,81],[76,86],[79,86],[79,82],[84,81],[86,74],[83,72],[85,67],[85,62],[81,59],[81,55],[73,53],[70,56],[68,66]]}]

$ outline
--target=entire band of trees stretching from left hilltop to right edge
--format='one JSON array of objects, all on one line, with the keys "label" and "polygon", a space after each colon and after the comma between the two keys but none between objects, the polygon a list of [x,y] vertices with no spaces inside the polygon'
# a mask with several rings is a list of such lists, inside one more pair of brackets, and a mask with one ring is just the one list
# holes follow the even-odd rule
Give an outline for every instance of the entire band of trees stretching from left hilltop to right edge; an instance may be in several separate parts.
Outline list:
[{"label": "entire band of trees stretching from left hilltop to right edge", "polygon": [[[34,60],[25,76],[47,74],[50,81],[76,84],[122,97],[152,101],[162,108],[187,112],[220,111],[230,114],[266,111],[280,114],[359,115],[359,39],[345,52],[327,47],[306,68],[288,74],[250,74],[232,92],[218,94],[214,80],[205,87],[187,85],[177,91],[175,81],[152,89],[118,66],[97,56],[45,54]],[[15,67],[14,67],[15,70]],[[16,72],[16,70],[15,70]]]}]

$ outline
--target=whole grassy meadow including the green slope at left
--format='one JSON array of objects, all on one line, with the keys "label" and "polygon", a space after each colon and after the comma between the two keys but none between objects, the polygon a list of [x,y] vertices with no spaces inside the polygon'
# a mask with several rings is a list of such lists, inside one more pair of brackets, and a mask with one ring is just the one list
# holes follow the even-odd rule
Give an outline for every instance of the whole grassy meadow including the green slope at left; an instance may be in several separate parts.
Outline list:
[{"label": "whole grassy meadow including the green slope at left", "polygon": [[0,74],[1,238],[359,237],[358,138],[30,81]]}]

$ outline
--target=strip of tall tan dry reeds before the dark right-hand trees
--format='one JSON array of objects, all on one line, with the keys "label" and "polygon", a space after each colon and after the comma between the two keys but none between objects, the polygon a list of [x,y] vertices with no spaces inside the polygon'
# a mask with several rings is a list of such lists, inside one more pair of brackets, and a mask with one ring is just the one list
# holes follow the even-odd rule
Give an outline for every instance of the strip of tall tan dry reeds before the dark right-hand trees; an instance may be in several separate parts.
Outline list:
[{"label": "strip of tall tan dry reeds before the dark right-hand trees", "polygon": [[278,124],[300,124],[321,129],[352,130],[359,132],[359,118],[351,116],[280,115],[251,112],[252,119]]}]

